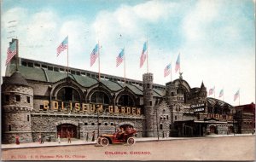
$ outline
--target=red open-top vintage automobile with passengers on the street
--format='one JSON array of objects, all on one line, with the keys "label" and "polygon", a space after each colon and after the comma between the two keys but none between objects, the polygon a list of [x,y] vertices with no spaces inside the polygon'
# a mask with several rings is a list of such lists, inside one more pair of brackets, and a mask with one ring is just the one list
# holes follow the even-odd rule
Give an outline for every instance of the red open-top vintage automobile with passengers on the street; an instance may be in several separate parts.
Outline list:
[{"label": "red open-top vintage automobile with passengers on the street", "polygon": [[132,127],[123,128],[123,132],[115,132],[113,134],[102,134],[97,139],[97,144],[102,146],[108,146],[108,144],[117,144],[117,143],[127,143],[128,145],[133,145],[135,143],[134,136],[137,133],[136,129]]}]

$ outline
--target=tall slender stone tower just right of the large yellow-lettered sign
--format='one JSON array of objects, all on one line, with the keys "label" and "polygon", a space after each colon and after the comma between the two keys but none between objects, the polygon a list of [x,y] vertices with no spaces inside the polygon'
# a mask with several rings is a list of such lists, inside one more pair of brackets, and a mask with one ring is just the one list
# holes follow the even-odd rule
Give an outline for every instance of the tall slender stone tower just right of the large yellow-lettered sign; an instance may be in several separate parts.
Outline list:
[{"label": "tall slender stone tower just right of the large yellow-lettered sign", "polygon": [[146,116],[146,136],[153,137],[153,120],[154,120],[154,106],[153,106],[153,73],[143,74],[143,103],[144,114]]}]

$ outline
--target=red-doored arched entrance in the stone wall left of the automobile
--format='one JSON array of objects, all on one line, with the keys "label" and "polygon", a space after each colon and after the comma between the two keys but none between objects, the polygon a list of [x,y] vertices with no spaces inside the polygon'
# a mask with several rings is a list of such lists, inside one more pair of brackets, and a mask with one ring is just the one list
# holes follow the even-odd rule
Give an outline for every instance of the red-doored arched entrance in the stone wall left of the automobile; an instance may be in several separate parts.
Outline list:
[{"label": "red-doored arched entrance in the stone wall left of the automobile", "polygon": [[72,138],[77,138],[77,126],[73,124],[60,124],[57,126],[57,134],[61,138],[67,138],[67,134],[70,132]]}]

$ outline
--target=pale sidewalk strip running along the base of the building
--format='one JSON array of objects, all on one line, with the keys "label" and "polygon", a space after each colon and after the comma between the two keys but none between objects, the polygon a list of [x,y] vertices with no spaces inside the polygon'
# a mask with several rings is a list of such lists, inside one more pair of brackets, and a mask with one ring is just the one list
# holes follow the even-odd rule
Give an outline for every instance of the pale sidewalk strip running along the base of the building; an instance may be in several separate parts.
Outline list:
[{"label": "pale sidewalk strip running along the base of the building", "polygon": [[[154,141],[169,141],[169,140],[189,140],[189,139],[198,139],[198,138],[211,138],[211,137],[227,137],[234,136],[234,134],[230,135],[208,135],[208,136],[198,136],[198,137],[141,137],[136,138],[136,142],[154,142]],[[235,136],[253,136],[252,134],[236,134]],[[254,135],[255,136],[255,135]],[[15,148],[43,148],[43,147],[57,147],[57,146],[76,146],[76,145],[95,145],[95,142],[85,142],[84,140],[76,140],[71,143],[67,143],[67,141],[63,141],[61,143],[58,142],[44,142],[40,144],[39,142],[29,142],[29,143],[20,143],[20,145],[12,144],[2,144],[2,149],[15,149]]]}]

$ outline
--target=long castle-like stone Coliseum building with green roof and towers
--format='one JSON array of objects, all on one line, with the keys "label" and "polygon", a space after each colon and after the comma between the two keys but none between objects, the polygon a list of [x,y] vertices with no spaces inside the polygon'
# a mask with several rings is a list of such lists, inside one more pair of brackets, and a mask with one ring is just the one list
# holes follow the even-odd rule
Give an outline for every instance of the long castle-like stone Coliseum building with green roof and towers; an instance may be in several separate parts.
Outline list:
[{"label": "long castle-like stone Coliseum building with green roof and towers", "polygon": [[49,64],[15,59],[2,84],[3,143],[36,142],[38,136],[91,139],[130,125],[142,136],[206,136],[236,130],[230,104],[207,97],[203,83],[190,88],[180,77],[166,85],[119,78]]}]

